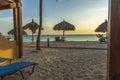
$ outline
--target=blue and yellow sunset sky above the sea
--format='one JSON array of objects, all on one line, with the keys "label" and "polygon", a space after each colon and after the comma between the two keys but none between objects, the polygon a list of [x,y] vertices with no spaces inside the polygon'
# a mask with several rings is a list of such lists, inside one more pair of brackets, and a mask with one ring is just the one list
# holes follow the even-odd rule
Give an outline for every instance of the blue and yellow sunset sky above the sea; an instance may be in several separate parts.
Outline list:
[{"label": "blue and yellow sunset sky above the sea", "polygon": [[[39,0],[22,0],[22,26],[32,19],[39,24]],[[75,26],[75,31],[66,34],[97,34],[94,30],[105,19],[108,19],[108,0],[43,0],[43,35],[62,34],[53,27],[63,20]],[[0,11],[0,28],[2,34],[13,28],[12,9]],[[26,32],[31,34],[30,30]]]}]

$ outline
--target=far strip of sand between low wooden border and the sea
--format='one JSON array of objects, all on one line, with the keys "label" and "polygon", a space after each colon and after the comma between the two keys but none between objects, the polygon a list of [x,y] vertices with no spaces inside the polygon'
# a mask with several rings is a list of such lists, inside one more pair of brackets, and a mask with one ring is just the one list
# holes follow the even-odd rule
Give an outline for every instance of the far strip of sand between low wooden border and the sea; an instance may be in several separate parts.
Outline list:
[{"label": "far strip of sand between low wooden border and the sea", "polygon": [[[27,43],[25,42],[24,43],[25,47],[35,47],[36,44],[35,43]],[[48,45],[47,42],[41,42],[41,47],[43,48],[46,48]],[[65,41],[65,42],[62,42],[62,41],[58,41],[58,42],[55,42],[55,41],[51,41],[49,42],[49,46],[51,48],[91,48],[91,49],[106,49],[107,48],[107,44],[103,43],[103,44],[100,44],[99,41]]]}]

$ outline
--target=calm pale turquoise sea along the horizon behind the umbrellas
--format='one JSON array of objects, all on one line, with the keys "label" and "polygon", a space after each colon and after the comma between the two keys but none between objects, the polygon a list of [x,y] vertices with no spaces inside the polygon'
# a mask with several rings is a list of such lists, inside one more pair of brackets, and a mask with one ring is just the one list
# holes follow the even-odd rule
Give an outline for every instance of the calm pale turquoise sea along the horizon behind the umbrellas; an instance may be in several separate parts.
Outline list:
[{"label": "calm pale turquoise sea along the horizon behind the umbrellas", "polygon": [[[60,35],[41,35],[41,41],[47,41],[49,38],[50,41],[55,41],[55,37]],[[6,35],[6,38],[14,39],[11,35]],[[23,42],[31,42],[31,35],[23,36]],[[34,41],[36,41],[37,35],[34,36]],[[65,35],[66,41],[98,41],[99,38],[95,34],[81,34],[81,35]]]}]

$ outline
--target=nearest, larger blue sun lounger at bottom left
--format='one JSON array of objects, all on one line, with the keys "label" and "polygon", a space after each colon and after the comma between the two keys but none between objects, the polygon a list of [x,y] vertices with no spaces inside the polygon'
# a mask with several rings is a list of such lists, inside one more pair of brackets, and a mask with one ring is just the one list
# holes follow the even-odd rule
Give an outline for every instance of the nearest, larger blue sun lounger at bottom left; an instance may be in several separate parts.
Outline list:
[{"label": "nearest, larger blue sun lounger at bottom left", "polygon": [[21,77],[24,79],[24,76],[23,76],[23,73],[22,73],[21,69],[26,68],[28,66],[33,66],[32,71],[31,71],[31,74],[32,74],[36,64],[37,63],[34,63],[34,62],[16,62],[16,63],[12,63],[12,64],[9,64],[9,65],[6,65],[6,66],[0,66],[1,80],[3,80],[3,78],[5,76],[7,76],[9,74],[13,74],[17,71],[20,72]]}]

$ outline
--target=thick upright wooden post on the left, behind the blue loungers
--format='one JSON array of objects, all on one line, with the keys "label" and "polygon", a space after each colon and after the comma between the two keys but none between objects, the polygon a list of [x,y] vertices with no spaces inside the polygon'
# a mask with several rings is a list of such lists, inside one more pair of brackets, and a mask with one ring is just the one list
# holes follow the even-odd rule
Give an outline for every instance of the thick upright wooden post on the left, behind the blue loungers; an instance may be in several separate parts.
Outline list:
[{"label": "thick upright wooden post on the left, behind the blue loungers", "polygon": [[16,40],[16,48],[18,57],[21,58],[23,55],[23,38],[22,38],[22,8],[21,0],[15,0],[16,8],[13,9],[14,16],[14,36]]}]

